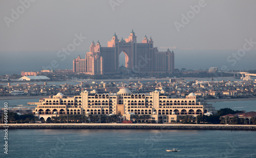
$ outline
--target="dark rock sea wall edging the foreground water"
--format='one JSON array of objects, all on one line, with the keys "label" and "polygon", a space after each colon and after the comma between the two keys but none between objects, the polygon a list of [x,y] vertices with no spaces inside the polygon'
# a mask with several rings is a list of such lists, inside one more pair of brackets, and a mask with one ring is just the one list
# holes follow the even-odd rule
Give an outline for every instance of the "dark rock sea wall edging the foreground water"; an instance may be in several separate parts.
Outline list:
[{"label": "dark rock sea wall edging the foreground water", "polygon": [[[0,125],[0,129],[4,129]],[[166,130],[256,130],[256,126],[225,125],[10,125],[8,129],[166,129]]]}]

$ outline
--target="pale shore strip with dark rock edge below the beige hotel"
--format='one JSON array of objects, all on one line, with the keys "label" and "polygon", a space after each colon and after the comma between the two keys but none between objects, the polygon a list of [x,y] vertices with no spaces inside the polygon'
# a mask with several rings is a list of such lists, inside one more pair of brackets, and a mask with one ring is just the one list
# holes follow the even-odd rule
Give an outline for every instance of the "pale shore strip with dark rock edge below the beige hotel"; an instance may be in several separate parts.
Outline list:
[{"label": "pale shore strip with dark rock edge below the beige hotel", "polygon": [[[0,124],[0,129],[4,128],[6,128],[5,124]],[[256,125],[142,123],[23,123],[8,124],[8,129],[256,130]]]}]

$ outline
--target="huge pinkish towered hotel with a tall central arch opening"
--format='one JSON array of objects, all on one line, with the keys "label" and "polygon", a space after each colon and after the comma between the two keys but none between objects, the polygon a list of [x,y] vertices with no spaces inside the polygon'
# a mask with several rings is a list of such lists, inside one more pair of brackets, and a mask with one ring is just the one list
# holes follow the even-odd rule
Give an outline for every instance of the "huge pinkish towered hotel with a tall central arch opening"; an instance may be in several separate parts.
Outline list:
[{"label": "huge pinkish towered hotel with a tall central arch opening", "polygon": [[174,52],[158,51],[154,47],[153,39],[149,40],[145,36],[142,43],[137,43],[137,37],[132,31],[130,36],[123,40],[114,34],[107,47],[102,47],[99,41],[94,41],[87,52],[86,58],[78,56],[73,61],[73,72],[85,74],[106,74],[118,73],[119,55],[125,55],[125,67],[137,73],[173,73],[174,72]]}]

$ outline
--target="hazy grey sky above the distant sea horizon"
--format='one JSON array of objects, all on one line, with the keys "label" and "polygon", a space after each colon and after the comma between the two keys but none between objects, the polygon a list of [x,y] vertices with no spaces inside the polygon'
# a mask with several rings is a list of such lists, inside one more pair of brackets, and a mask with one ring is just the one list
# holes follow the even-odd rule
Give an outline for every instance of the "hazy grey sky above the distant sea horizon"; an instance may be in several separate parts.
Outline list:
[{"label": "hazy grey sky above the distant sea horizon", "polygon": [[[245,39],[256,41],[254,0],[205,1],[178,32],[174,22],[182,24],[181,14],[187,17],[199,2],[37,0],[23,10],[19,1],[1,0],[0,51],[58,51],[80,33],[87,39],[76,50],[88,51],[93,39],[106,46],[115,32],[127,38],[132,29],[137,41],[146,34],[158,48],[239,49]],[[18,18],[12,18],[12,9],[19,9]]]}]

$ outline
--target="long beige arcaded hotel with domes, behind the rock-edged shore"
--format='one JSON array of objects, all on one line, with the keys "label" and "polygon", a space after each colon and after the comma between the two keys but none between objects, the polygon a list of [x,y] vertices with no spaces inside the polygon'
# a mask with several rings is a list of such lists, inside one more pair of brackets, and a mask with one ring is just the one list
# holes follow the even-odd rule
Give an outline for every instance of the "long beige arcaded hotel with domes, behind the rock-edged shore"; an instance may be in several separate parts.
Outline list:
[{"label": "long beige arcaded hotel with domes, behind the rock-edged shore", "polygon": [[117,93],[83,91],[80,95],[68,97],[62,93],[42,98],[34,114],[47,120],[52,115],[61,114],[120,114],[125,120],[131,120],[134,114],[151,115],[156,122],[177,120],[178,115],[215,114],[215,108],[202,98],[190,93],[186,98],[171,98],[165,91],[133,94],[129,89],[120,89]]}]

